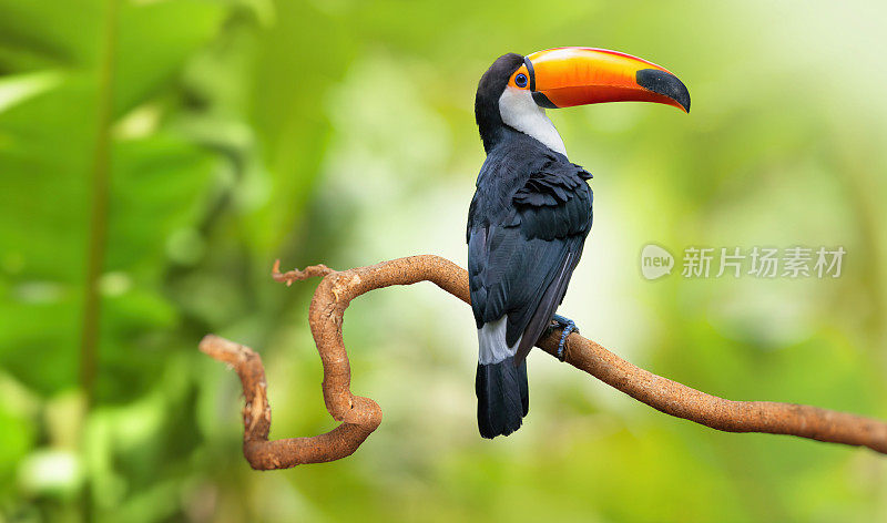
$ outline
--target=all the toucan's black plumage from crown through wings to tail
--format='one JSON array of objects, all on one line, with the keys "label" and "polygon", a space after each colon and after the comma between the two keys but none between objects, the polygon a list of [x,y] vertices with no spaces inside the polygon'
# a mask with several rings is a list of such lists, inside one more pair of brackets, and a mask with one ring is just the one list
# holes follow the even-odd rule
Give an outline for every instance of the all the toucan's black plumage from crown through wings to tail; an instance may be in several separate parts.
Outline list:
[{"label": "all the toucan's black plumage from crown through wings to tail", "polygon": [[471,307],[478,329],[507,318],[508,353],[486,363],[481,353],[478,365],[485,438],[510,434],[527,416],[527,353],[563,300],[592,222],[591,175],[502,122],[499,96],[522,63],[517,54],[500,58],[481,79],[476,102],[487,160],[468,214]]}]

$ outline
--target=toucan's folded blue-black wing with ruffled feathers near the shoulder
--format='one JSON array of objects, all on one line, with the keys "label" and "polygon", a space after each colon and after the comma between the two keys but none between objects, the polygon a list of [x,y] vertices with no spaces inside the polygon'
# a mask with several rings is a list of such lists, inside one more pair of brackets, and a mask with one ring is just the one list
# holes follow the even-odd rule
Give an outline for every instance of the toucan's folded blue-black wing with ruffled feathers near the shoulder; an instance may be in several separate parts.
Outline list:
[{"label": "toucan's folded blue-black wing with ruffled feathers near the shoulder", "polygon": [[590,177],[569,162],[546,163],[514,193],[504,219],[469,230],[469,285],[478,328],[508,315],[507,345],[521,340],[518,363],[563,299],[582,255],[592,221]]}]

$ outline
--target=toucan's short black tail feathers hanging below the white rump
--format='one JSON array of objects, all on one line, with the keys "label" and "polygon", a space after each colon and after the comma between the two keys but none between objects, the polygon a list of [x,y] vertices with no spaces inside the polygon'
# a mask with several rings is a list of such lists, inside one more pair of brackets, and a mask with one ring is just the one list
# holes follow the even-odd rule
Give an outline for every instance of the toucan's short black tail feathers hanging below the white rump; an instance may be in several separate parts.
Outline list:
[{"label": "toucan's short black tail feathers hanging below the white rump", "polygon": [[480,435],[496,438],[514,432],[530,408],[527,360],[518,366],[513,357],[498,363],[478,363],[475,391]]}]

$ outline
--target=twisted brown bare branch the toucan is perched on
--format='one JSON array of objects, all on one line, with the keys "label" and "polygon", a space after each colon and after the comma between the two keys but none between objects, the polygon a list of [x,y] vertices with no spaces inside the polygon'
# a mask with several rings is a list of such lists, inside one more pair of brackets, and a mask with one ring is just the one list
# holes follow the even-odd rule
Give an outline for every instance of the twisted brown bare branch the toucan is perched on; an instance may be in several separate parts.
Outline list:
[{"label": "twisted brown bare branch the toucan is perched on", "polygon": [[[324,365],[324,401],[333,418],[341,423],[330,432],[268,441],[271,407],[258,355],[212,335],[201,341],[201,350],[232,365],[241,377],[246,399],[244,455],[254,469],[286,469],[345,458],[381,422],[379,406],[369,398],[351,394],[350,390],[351,371],[341,324],[345,309],[354,298],[391,285],[431,281],[470,302],[468,273],[438,256],[411,256],[343,271],[318,265],[281,273],[279,262],[274,264],[274,279],[287,285],[313,276],[324,279],[314,293],[308,322]],[[537,346],[555,356],[559,339],[560,331],[555,330],[542,337]],[[887,423],[884,421],[793,403],[725,400],[635,367],[575,332],[567,339],[565,361],[661,412],[712,429],[789,434],[887,453]]]}]

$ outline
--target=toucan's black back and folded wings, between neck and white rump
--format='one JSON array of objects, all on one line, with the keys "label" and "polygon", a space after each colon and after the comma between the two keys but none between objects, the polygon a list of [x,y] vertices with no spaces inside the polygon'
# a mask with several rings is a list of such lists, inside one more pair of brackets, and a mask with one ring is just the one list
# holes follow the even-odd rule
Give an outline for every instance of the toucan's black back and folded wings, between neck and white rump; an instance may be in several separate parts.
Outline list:
[{"label": "toucan's black back and folded wings, between neck and white rump", "polygon": [[506,133],[487,155],[469,208],[468,271],[477,327],[508,315],[507,345],[523,335],[520,362],[582,255],[592,222],[591,174],[533,137]]}]

